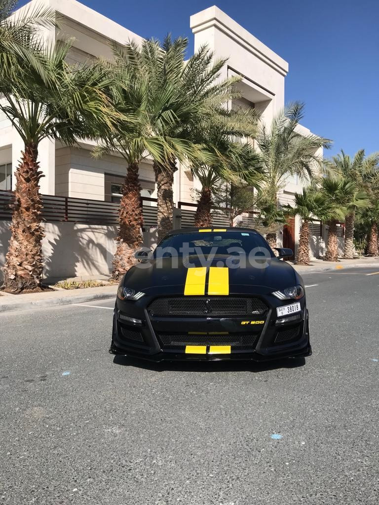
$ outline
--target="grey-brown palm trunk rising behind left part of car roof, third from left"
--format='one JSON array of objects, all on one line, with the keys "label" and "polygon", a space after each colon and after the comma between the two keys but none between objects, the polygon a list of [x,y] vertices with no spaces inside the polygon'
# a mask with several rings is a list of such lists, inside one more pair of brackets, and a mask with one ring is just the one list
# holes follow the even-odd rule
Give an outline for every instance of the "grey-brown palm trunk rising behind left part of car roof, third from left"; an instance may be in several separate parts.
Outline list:
[{"label": "grey-brown palm trunk rising behind left part of car roof, third from left", "polygon": [[157,220],[158,220],[158,240],[172,230],[174,198],[172,185],[174,183],[174,172],[177,170],[175,160],[169,163],[168,167],[154,163],[155,181],[157,183]]}]

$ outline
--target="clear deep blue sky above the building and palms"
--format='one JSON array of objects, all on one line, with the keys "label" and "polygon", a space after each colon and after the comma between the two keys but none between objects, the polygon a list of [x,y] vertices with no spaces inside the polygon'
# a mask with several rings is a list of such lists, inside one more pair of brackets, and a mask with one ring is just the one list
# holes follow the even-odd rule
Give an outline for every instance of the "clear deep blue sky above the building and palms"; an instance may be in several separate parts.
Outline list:
[{"label": "clear deep blue sky above the building and palms", "polygon": [[[84,0],[144,37],[186,35],[205,0]],[[330,154],[379,150],[379,2],[377,0],[217,0],[216,5],[289,62],[286,102],[306,103],[304,126],[334,140]],[[329,153],[325,153],[328,155]]]}]

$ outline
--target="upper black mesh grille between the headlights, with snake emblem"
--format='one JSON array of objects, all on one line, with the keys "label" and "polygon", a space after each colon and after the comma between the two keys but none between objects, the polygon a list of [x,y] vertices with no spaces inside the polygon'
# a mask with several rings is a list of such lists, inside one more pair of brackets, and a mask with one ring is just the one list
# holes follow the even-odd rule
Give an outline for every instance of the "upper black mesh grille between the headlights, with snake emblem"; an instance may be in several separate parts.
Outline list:
[{"label": "upper black mesh grille between the headlights, with snake emblem", "polygon": [[151,316],[260,316],[268,313],[267,305],[259,298],[233,296],[188,296],[156,298],[149,305]]}]

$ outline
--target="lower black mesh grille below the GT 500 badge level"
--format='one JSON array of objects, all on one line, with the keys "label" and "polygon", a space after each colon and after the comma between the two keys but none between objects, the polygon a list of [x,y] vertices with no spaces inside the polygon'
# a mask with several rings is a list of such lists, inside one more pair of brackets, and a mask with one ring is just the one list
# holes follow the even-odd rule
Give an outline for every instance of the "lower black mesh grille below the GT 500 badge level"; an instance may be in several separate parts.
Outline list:
[{"label": "lower black mesh grille below the GT 500 badge level", "polygon": [[188,334],[158,334],[158,339],[163,348],[182,347],[183,345],[231,345],[232,348],[240,350],[254,349],[258,341],[259,333],[229,333],[229,334],[208,334],[208,335],[188,335]]}]

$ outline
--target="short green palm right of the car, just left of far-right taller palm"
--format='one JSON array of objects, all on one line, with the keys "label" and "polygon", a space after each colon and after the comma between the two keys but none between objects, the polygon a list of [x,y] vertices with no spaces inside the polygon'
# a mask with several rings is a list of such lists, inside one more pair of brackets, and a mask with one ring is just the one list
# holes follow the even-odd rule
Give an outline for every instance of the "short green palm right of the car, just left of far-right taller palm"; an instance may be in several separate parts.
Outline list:
[{"label": "short green palm right of the car, just left of far-right taller palm", "polygon": [[329,225],[326,261],[338,260],[337,223],[344,221],[351,209],[363,209],[369,206],[367,194],[358,184],[343,177],[325,176],[321,178],[320,191],[327,198],[328,210],[325,209],[324,222]]}]

